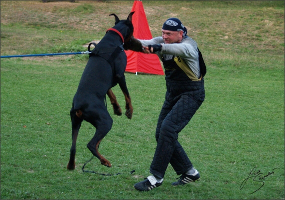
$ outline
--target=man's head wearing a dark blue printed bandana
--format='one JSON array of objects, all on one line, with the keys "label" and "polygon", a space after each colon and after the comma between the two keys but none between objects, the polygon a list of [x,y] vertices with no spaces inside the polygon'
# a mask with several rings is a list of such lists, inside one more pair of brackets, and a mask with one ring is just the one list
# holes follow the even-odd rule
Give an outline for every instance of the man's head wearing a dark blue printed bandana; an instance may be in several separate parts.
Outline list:
[{"label": "man's head wearing a dark blue printed bandana", "polygon": [[187,29],[178,18],[169,18],[163,23],[162,38],[164,43],[180,43],[186,34]]}]

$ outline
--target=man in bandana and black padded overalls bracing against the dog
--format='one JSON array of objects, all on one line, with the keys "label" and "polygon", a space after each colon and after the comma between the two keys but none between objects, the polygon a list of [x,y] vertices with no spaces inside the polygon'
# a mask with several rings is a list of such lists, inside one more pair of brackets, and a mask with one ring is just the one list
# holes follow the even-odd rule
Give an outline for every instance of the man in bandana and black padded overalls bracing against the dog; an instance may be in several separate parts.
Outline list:
[{"label": "man in bandana and black padded overalls bracing against the dog", "polygon": [[182,174],[172,185],[184,185],[198,180],[199,172],[177,140],[178,133],[187,125],[205,98],[197,43],[187,36],[187,29],[178,18],[169,18],[164,22],[162,36],[140,41],[145,47],[145,53],[156,53],[162,60],[167,91],[156,127],[157,146],[150,165],[152,175],[134,187],[148,191],[160,186],[168,163],[177,175]]}]

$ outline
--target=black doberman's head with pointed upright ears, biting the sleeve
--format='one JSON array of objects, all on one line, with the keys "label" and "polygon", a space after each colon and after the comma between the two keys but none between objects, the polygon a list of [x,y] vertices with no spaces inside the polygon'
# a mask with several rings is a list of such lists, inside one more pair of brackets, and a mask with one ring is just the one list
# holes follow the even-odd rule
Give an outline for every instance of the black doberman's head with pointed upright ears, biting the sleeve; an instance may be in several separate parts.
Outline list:
[{"label": "black doberman's head with pointed upright ears, biting the sleeve", "polygon": [[113,28],[117,29],[124,37],[124,48],[131,49],[134,51],[142,52],[141,42],[133,36],[134,26],[132,23],[132,17],[135,12],[130,12],[129,16],[125,20],[120,20],[116,14],[109,14],[115,16],[115,26]]}]

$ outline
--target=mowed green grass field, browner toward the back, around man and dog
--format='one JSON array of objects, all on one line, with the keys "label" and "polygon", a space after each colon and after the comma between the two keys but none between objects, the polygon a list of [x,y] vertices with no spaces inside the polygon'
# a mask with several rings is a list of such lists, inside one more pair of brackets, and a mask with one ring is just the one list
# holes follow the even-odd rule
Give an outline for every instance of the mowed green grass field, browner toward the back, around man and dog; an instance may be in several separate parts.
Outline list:
[{"label": "mowed green grass field, browner toward the back, around man and dog", "polygon": [[[1,55],[85,51],[83,44],[113,26],[108,14],[124,19],[132,4],[1,1]],[[88,56],[1,58],[2,199],[284,199],[284,2],[143,5],[153,36],[161,34],[165,19],[180,18],[207,65],[205,101],[179,133],[201,180],[173,187],[178,175],[169,165],[162,186],[149,192],[133,188],[149,175],[164,76],[125,73],[131,120],[114,115],[107,99],[114,122],[100,152],[113,167],[97,158],[85,166],[121,173],[104,176],[81,170],[92,157],[86,144],[95,128],[87,122],[77,140],[76,169],[66,169],[69,110]],[[113,91],[124,107],[119,86]],[[250,171],[259,172],[242,187]]]}]

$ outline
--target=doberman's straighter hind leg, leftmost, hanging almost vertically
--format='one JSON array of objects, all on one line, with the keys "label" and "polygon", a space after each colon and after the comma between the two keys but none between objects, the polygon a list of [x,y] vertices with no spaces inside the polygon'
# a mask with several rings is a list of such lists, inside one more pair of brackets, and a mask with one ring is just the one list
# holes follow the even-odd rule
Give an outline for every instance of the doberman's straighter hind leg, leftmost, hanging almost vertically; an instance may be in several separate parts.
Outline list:
[{"label": "doberman's straighter hind leg, leftmost, hanging almost vertically", "polygon": [[79,132],[79,128],[83,121],[82,118],[82,111],[81,110],[74,110],[73,108],[70,111],[71,117],[71,124],[72,124],[72,146],[70,149],[70,158],[67,164],[68,169],[75,168],[75,153],[76,153],[76,140]]}]

